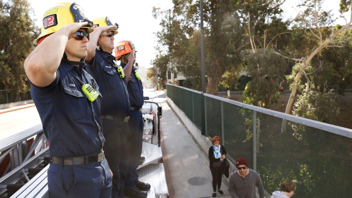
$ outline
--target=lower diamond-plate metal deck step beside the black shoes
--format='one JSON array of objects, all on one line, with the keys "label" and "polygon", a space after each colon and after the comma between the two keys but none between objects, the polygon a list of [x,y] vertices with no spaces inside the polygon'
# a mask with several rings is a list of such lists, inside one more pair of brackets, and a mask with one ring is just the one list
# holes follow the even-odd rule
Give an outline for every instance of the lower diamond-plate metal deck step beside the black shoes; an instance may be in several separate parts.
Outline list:
[{"label": "lower diamond-plate metal deck step beside the black shoes", "polygon": [[165,169],[163,163],[152,163],[138,169],[139,181],[149,183],[155,187],[156,196],[167,197],[169,195],[166,184]]}]

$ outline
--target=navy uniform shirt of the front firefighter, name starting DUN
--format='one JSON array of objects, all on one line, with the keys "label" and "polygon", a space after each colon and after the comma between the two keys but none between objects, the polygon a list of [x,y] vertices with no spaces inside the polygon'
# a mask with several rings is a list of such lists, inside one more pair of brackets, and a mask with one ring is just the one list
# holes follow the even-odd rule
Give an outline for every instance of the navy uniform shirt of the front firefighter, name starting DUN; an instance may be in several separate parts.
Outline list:
[{"label": "navy uniform shirt of the front firefighter, name starting DUN", "polygon": [[[31,96],[42,120],[45,137],[49,140],[51,156],[96,155],[105,143],[100,118],[101,94],[84,67],[61,61],[51,85],[38,87],[30,82]],[[75,76],[90,84],[99,97],[90,102]]]}]

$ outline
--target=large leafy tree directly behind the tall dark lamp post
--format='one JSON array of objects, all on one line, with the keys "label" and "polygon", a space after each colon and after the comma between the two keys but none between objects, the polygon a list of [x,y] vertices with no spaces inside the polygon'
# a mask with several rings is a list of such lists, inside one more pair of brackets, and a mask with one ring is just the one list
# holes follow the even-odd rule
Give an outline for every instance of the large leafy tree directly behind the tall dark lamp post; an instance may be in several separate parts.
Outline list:
[{"label": "large leafy tree directly behind the tall dark lamp post", "polygon": [[[174,1],[172,10],[154,9],[163,30],[157,32],[158,50],[165,50],[175,63],[174,67],[187,78],[194,79],[194,88],[200,87],[200,31],[199,2]],[[232,5],[237,1],[205,1],[204,21],[207,92],[215,93],[226,70],[239,66],[239,51],[244,46],[244,29]]]}]

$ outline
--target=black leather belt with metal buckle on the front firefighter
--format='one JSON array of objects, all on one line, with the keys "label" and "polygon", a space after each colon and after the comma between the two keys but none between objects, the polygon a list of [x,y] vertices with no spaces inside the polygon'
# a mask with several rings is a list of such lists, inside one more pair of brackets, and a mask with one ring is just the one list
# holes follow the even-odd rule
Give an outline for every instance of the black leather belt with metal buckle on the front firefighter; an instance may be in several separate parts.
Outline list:
[{"label": "black leather belt with metal buckle on the front firefighter", "polygon": [[[86,164],[86,157],[51,157],[51,162],[57,165],[60,165],[61,159],[64,159],[65,165],[82,165]],[[100,162],[104,159],[104,151],[99,153],[98,155],[88,156],[88,163]]]}]

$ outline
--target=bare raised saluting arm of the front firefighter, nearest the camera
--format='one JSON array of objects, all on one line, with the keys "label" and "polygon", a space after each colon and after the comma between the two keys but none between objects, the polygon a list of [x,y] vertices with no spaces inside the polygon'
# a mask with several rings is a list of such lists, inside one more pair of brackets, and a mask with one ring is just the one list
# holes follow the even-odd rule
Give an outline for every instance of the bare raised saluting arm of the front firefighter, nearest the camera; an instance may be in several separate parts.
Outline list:
[{"label": "bare raised saluting arm of the front firefighter, nearest the camera", "polygon": [[24,69],[28,79],[36,86],[46,87],[56,78],[68,39],[88,22],[72,23],[63,26],[48,36],[26,58]]}]

